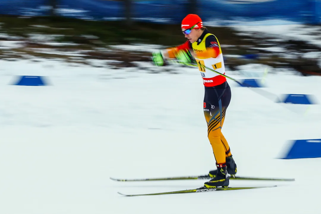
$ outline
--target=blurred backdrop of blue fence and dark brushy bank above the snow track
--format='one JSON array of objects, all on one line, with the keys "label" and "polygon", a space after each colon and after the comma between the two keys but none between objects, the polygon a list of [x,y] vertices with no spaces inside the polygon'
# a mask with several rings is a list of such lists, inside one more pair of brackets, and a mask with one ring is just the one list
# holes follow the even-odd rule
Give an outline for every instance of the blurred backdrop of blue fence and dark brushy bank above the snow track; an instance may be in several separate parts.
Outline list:
[{"label": "blurred backdrop of blue fence and dark brushy bank above the snow track", "polygon": [[0,55],[146,69],[152,51],[185,41],[188,13],[218,37],[231,71],[321,74],[321,0],[0,0]]}]

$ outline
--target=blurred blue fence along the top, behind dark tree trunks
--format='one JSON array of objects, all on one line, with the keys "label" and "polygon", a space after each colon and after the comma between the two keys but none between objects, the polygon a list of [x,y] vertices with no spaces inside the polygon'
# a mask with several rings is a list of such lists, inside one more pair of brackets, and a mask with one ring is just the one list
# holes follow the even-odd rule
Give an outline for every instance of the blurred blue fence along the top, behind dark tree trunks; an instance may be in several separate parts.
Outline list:
[{"label": "blurred blue fence along the top, behind dark tree trunks", "polygon": [[[0,0],[0,14],[49,15],[53,0]],[[122,20],[124,1],[55,0],[56,14],[89,20]],[[144,22],[179,24],[188,14],[187,0],[132,0],[131,17]],[[204,25],[320,24],[321,0],[196,0],[193,8]]]}]

